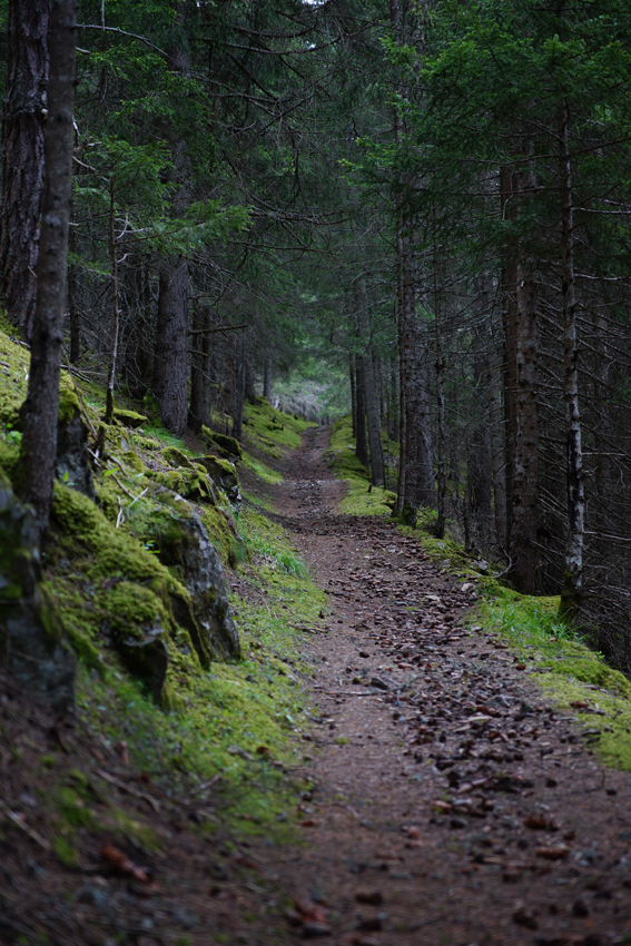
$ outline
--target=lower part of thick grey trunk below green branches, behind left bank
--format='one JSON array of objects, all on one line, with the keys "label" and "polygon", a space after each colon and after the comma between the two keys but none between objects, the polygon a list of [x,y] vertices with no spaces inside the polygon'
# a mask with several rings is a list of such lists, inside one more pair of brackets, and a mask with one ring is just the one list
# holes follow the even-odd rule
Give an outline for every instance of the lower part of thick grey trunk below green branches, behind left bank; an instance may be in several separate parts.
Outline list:
[{"label": "lower part of thick grey trunk below green branches, behind left bank", "polygon": [[187,421],[188,264],[181,257],[162,260],[152,390],[160,420],[178,436]]}]

